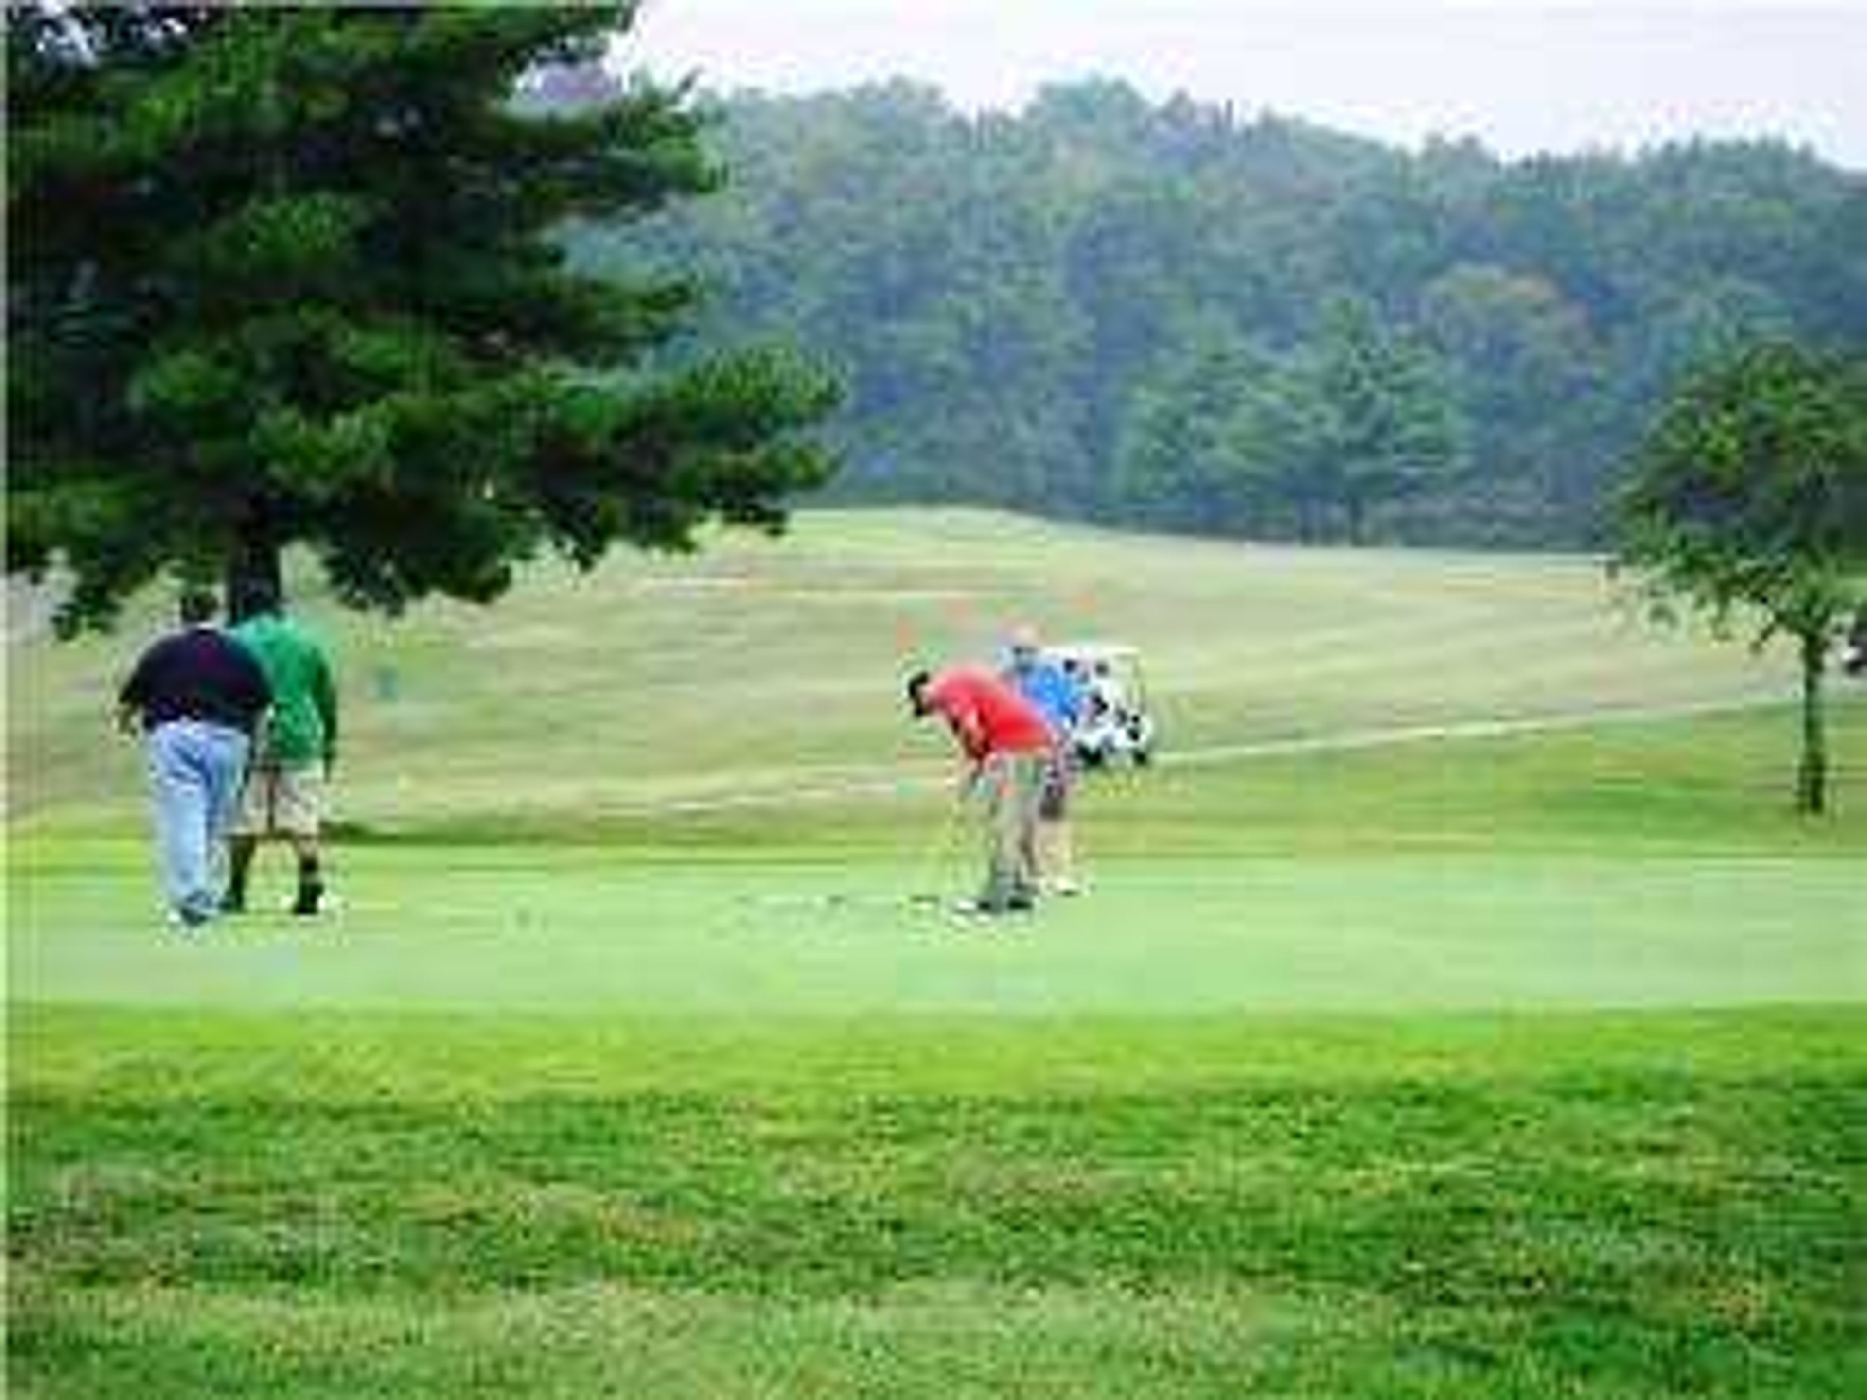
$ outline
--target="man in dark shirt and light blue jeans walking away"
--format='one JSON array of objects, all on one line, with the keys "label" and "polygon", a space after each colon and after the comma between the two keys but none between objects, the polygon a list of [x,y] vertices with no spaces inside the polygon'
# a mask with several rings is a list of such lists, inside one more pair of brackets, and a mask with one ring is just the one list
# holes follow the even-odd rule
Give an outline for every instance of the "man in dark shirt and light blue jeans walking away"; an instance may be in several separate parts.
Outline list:
[{"label": "man in dark shirt and light blue jeans walking away", "polygon": [[136,661],[118,724],[140,722],[155,799],[155,849],[174,918],[198,928],[220,907],[218,870],[254,724],[273,702],[260,663],[218,633],[215,595],[181,595],[181,631]]}]

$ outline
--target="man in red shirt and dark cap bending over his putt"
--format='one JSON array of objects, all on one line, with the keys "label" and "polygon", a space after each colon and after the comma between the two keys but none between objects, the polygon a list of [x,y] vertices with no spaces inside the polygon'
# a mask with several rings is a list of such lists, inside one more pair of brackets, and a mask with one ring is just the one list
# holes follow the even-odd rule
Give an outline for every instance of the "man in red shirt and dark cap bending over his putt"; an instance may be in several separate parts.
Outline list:
[{"label": "man in red shirt and dark cap bending over his putt", "polygon": [[1038,889],[1036,829],[1044,763],[1055,743],[1044,715],[986,670],[947,670],[907,678],[915,719],[945,717],[973,760],[962,795],[984,790],[988,864],[971,913],[1031,909]]}]

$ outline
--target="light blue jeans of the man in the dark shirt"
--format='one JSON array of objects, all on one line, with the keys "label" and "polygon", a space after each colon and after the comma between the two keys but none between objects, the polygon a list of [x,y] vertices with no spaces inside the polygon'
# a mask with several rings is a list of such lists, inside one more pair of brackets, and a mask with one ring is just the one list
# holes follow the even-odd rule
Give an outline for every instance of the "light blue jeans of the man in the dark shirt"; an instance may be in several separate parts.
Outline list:
[{"label": "light blue jeans of the man in the dark shirt", "polygon": [[246,773],[246,735],[181,719],[157,726],[147,747],[162,890],[183,920],[200,924],[220,907],[222,855]]}]

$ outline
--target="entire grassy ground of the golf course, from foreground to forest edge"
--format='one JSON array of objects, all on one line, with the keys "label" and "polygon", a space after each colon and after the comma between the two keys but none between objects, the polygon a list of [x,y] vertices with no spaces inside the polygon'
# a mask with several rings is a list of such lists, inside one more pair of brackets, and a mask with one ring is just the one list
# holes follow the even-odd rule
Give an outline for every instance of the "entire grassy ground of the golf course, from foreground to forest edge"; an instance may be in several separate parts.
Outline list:
[{"label": "entire grassy ground of the golf course, from foreground to forest edge", "polygon": [[[1867,1387],[1867,707],[1837,707],[1822,823],[1787,812],[1779,709],[1113,775],[1085,805],[1090,898],[967,931],[902,898],[937,790],[840,791],[892,758],[937,771],[885,676],[844,689],[941,577],[978,618],[941,637],[984,644],[1102,567],[1122,629],[1184,663],[1158,668],[1182,749],[1774,681],[1621,631],[1583,566],[941,519],[924,551],[911,517],[831,519],[793,553],[543,581],[485,627],[347,631],[370,833],[336,853],[347,907],[200,943],[155,924],[133,775],[86,737],[105,653],[30,651],[13,1393]],[[764,601],[711,614],[708,571]],[[1253,577],[1294,622],[1221,629]],[[838,586],[866,594],[816,599]],[[1587,644],[1428,625],[1481,614]],[[1434,674],[1406,640],[1428,633]],[[476,637],[538,648],[489,672]],[[747,689],[700,706],[708,666]],[[659,749],[618,719],[614,769],[590,762],[579,726],[644,711]],[[764,801],[792,782],[827,795]],[[762,801],[653,808],[717,791]],[[278,857],[265,875],[276,900]]]}]

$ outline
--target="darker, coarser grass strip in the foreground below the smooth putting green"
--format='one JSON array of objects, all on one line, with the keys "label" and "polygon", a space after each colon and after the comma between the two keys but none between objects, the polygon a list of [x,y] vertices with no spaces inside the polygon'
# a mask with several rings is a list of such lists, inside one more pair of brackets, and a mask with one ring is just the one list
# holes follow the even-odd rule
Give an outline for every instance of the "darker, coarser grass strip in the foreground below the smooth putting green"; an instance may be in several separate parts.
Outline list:
[{"label": "darker, coarser grass strip in the foreground below the smooth putting green", "polygon": [[13,1385],[1850,1394],[1858,1032],[35,1012]]}]

